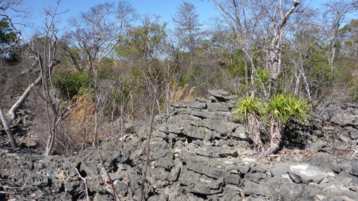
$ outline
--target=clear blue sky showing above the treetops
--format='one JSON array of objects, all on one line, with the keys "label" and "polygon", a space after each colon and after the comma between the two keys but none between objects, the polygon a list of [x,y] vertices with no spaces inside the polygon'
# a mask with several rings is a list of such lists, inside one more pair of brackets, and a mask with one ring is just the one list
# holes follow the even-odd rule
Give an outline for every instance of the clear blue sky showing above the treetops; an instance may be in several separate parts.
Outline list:
[{"label": "clear blue sky showing above the treetops", "polygon": [[[173,28],[172,17],[175,15],[179,4],[182,0],[129,0],[136,13],[140,15],[160,15],[163,22],[169,22],[168,27]],[[200,22],[209,27],[212,19],[219,16],[219,11],[208,0],[187,0],[196,5]],[[327,2],[326,0],[305,0],[310,6],[319,8],[319,5]],[[33,13],[31,18],[27,18],[27,25],[33,28],[39,27],[44,22],[44,8],[55,6],[56,0],[25,0],[30,12]],[[75,17],[81,11],[88,11],[91,6],[106,2],[106,0],[61,0],[60,11],[67,11],[67,13],[60,16],[61,28],[65,28],[68,19]],[[116,2],[113,0],[113,2]],[[30,36],[32,32],[26,32],[25,35]]]}]

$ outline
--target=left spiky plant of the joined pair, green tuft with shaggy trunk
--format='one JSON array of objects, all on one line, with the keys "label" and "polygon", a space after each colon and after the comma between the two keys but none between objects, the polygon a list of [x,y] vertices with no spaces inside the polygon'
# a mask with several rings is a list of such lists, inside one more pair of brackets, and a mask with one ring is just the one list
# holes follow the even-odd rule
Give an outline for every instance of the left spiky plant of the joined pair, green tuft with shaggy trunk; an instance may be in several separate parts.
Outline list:
[{"label": "left spiky plant of the joined pair, green tuft with shaggy trunk", "polygon": [[264,103],[255,96],[238,98],[237,110],[234,117],[245,123],[245,133],[254,143],[259,153],[264,153],[264,145],[260,136],[261,117],[263,115]]}]

